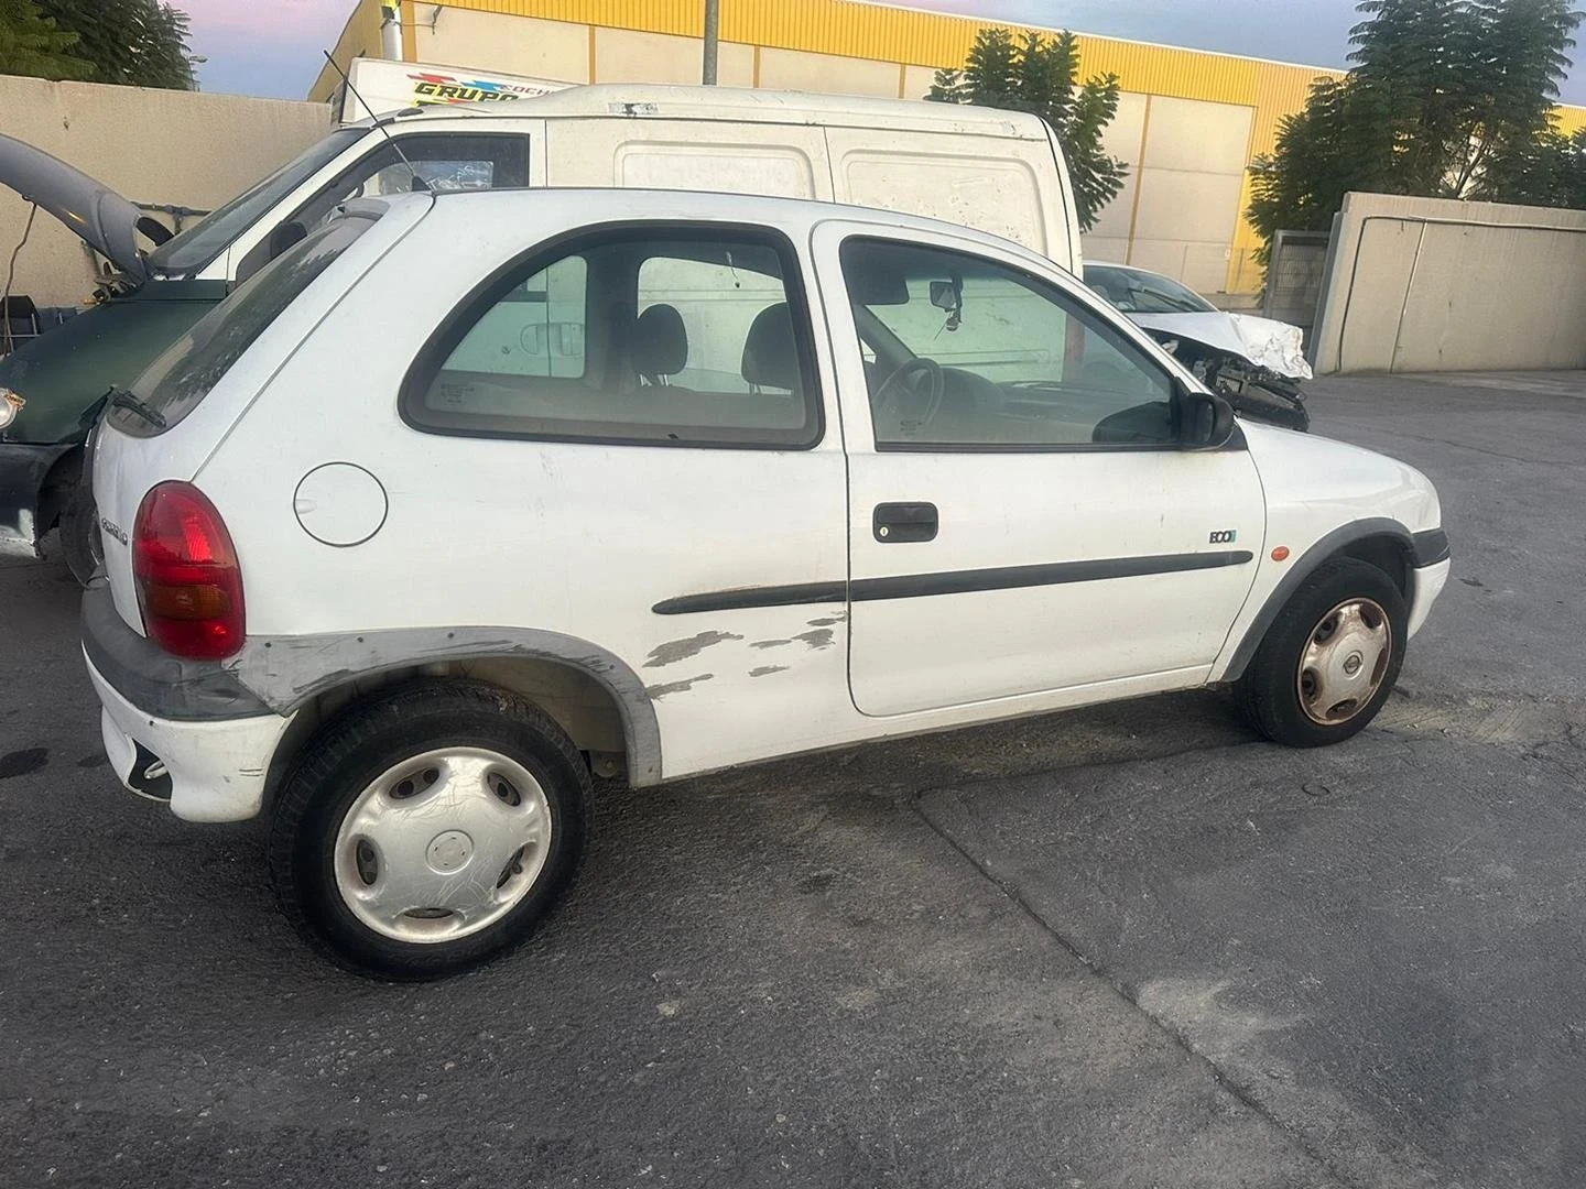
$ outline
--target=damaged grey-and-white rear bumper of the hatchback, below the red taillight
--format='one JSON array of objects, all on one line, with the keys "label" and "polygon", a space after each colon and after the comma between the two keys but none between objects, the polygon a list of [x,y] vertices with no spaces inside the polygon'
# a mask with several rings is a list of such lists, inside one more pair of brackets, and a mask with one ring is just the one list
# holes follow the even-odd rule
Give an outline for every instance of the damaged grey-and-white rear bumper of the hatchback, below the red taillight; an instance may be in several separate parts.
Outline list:
[{"label": "damaged grey-and-white rear bumper of the hatchback, below the red taillight", "polygon": [[82,658],[122,785],[189,821],[259,815],[292,715],[273,713],[220,664],[184,661],[135,633],[103,579],[82,596]]}]

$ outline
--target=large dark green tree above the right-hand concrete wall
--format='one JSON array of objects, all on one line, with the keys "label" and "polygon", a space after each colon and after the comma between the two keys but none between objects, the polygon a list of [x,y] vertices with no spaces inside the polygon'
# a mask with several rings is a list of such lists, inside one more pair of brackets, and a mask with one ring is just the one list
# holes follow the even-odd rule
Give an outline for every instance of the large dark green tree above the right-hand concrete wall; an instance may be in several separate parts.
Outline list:
[{"label": "large dark green tree above the right-hand concrete wall", "polygon": [[[1562,193],[1553,103],[1581,14],[1570,0],[1362,0],[1343,79],[1312,84],[1251,166],[1250,222],[1327,230],[1350,190],[1526,201]],[[1550,155],[1551,154],[1551,155]]]}]

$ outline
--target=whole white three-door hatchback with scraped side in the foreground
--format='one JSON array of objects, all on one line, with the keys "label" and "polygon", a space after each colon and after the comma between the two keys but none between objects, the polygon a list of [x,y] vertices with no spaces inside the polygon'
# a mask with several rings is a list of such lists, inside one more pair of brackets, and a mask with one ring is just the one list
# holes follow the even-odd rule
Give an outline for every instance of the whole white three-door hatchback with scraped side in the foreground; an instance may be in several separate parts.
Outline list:
[{"label": "whole white three-door hatchback with scraped side in the foreground", "polygon": [[368,973],[525,937],[590,774],[1231,683],[1329,744],[1448,575],[1432,485],[1240,425],[1072,276],[890,212],[536,190],[351,203],[97,433],[105,747],[270,815]]}]

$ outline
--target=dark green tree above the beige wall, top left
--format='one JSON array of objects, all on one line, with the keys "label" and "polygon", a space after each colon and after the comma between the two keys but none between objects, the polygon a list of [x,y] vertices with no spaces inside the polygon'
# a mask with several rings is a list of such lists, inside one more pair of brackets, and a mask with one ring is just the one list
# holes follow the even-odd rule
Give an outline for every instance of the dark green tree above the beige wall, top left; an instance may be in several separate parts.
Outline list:
[{"label": "dark green tree above the beige wall, top left", "polygon": [[79,36],[90,81],[192,90],[187,14],[163,0],[36,0],[44,16]]}]

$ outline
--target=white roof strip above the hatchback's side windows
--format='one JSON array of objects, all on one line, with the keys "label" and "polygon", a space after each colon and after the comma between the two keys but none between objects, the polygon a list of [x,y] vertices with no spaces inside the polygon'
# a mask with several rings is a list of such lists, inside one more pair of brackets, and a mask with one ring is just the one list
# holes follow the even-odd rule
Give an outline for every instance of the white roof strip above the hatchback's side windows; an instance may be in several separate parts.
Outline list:
[{"label": "white roof strip above the hatchback's side windows", "polygon": [[[1032,262],[1064,271],[1056,262],[1032,252],[1012,239],[979,231],[942,219],[902,214],[874,206],[852,206],[817,198],[776,198],[752,193],[722,193],[715,190],[638,190],[638,189],[574,189],[533,187],[522,190],[449,190],[435,195],[396,195],[387,201],[392,208],[409,201],[430,201],[438,214],[447,217],[466,209],[471,225],[492,225],[501,220],[503,228],[525,225],[525,208],[544,211],[546,222],[568,227],[580,222],[722,222],[750,227],[774,227],[788,236],[807,236],[818,224],[852,220],[874,224],[877,230],[931,231],[952,235],[958,239],[996,247],[1028,257]],[[531,217],[530,217],[531,219]],[[517,233],[517,231],[514,231]]]}]

